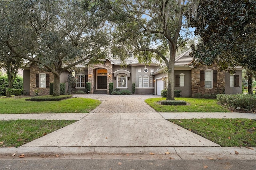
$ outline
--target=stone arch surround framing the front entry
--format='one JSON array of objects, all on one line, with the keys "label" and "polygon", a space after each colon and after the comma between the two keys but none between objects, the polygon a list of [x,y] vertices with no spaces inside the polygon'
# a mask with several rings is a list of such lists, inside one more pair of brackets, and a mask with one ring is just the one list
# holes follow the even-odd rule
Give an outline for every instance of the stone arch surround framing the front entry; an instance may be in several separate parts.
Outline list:
[{"label": "stone arch surround framing the front entry", "polygon": [[[96,83],[96,71],[95,69],[99,69],[99,68],[103,68],[106,69],[108,71],[108,75],[110,75],[110,77],[108,76],[108,94],[109,94],[109,83],[113,82],[113,69],[112,69],[112,64],[109,60],[106,60],[106,62],[104,64],[102,63],[98,63],[98,64],[94,64],[94,65],[88,65],[88,82],[91,83],[91,93],[93,93],[94,91],[94,85]],[[89,75],[92,75],[92,77],[89,77]]]}]

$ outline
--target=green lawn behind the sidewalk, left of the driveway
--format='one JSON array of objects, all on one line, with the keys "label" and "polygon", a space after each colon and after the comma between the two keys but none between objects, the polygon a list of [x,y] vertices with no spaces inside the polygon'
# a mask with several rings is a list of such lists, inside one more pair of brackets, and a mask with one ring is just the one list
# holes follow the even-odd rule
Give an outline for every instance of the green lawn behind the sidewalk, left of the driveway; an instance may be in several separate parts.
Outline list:
[{"label": "green lawn behind the sidewalk, left of the driveway", "polygon": [[70,98],[62,101],[26,101],[30,98],[0,98],[0,114],[20,113],[89,113],[100,101]]}]

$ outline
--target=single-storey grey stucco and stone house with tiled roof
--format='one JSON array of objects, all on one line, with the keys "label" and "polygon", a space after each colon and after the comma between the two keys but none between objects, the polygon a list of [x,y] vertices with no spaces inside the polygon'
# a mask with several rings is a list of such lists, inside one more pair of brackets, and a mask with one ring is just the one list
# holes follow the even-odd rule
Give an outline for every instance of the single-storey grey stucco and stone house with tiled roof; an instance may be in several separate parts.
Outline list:
[{"label": "single-storey grey stucco and stone house with tiled roof", "polygon": [[[182,97],[193,97],[200,94],[236,94],[242,93],[242,68],[236,69],[235,75],[218,71],[216,65],[212,67],[191,66],[190,51],[179,55],[175,59],[175,89],[182,90]],[[113,89],[127,89],[132,91],[135,83],[135,94],[161,95],[166,89],[167,73],[160,67],[160,62],[152,59],[150,64],[140,63],[129,53],[125,63],[118,59],[104,59],[101,63],[93,65],[77,65],[76,71],[64,72],[60,76],[60,83],[66,83],[68,91],[68,75],[76,77],[76,90],[85,90],[86,82],[91,83],[90,93],[109,94],[109,83]],[[27,95],[49,95],[49,84],[53,82],[53,74],[42,71],[36,63],[30,62],[24,69],[24,91]]]}]

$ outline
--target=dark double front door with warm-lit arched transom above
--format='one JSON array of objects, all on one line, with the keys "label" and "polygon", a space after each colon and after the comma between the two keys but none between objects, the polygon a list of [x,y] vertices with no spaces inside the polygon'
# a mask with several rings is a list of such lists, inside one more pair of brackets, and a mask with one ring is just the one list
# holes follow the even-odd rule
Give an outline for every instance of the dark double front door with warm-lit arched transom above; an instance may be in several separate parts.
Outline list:
[{"label": "dark double front door with warm-lit arched transom above", "polygon": [[108,71],[106,69],[96,69],[96,89],[108,89]]}]

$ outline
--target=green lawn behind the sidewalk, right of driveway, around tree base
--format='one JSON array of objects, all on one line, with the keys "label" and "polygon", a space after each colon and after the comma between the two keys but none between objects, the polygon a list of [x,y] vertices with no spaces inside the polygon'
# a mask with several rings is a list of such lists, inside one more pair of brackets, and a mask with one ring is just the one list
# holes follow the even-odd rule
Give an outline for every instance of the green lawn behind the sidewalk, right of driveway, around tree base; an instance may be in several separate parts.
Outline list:
[{"label": "green lawn behind the sidewalk, right of driveway, around tree base", "polygon": [[145,102],[157,112],[230,112],[225,107],[218,105],[216,99],[175,98],[175,100],[186,101],[187,105],[185,106],[161,105],[160,101],[162,100],[166,100],[166,98],[146,99]]}]

